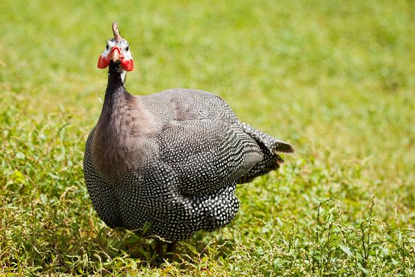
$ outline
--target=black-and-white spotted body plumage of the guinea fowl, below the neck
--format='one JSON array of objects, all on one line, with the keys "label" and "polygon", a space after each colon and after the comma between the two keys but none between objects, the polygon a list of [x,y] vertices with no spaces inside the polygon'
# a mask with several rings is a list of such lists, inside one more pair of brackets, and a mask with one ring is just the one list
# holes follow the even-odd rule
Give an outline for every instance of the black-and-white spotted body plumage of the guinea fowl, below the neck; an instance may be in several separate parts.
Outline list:
[{"label": "black-and-white spotted body plumage of the guinea fowl, below the neck", "polygon": [[147,138],[153,154],[111,178],[91,158],[95,129],[86,142],[86,185],[95,210],[111,228],[172,241],[219,229],[237,214],[236,185],[277,169],[282,163],[277,152],[293,152],[288,143],[239,122],[211,93],[173,89],[138,100],[157,126]]}]

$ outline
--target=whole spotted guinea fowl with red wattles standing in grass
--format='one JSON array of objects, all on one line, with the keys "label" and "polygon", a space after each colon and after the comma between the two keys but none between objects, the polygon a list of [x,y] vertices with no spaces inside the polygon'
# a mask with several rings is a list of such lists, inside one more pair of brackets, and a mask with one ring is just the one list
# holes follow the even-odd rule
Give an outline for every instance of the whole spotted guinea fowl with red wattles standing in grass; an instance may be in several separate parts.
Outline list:
[{"label": "whole spotted guinea fowl with red wattles standing in grass", "polygon": [[169,241],[230,223],[237,184],[282,163],[293,147],[241,123],[206,91],[169,89],[132,96],[129,44],[113,24],[98,67],[109,67],[98,123],[89,134],[84,177],[99,217],[111,228]]}]

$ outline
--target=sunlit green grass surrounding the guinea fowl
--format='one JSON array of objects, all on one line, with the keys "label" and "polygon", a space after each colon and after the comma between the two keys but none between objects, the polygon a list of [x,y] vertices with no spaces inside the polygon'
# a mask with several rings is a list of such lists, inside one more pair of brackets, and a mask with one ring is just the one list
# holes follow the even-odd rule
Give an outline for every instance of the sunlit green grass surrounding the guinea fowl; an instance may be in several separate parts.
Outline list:
[{"label": "sunlit green grass surrounding the guinea fowl", "polygon": [[[415,274],[414,1],[1,1],[0,276]],[[91,206],[84,143],[111,23],[127,89],[212,91],[295,145],[239,186],[229,226],[181,242],[113,231]]]}]

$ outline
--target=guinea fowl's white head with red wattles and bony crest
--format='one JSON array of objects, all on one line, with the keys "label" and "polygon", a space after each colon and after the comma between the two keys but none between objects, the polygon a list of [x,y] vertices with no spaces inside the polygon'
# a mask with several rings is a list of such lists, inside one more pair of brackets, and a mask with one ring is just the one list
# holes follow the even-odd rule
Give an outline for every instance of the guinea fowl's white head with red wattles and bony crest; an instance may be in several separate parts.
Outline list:
[{"label": "guinea fowl's white head with red wattles and bony crest", "polygon": [[129,44],[118,33],[116,22],[113,23],[113,33],[114,37],[107,41],[107,47],[98,59],[98,68],[105,69],[112,62],[118,68],[121,66],[125,71],[133,70],[133,56],[129,51]]}]

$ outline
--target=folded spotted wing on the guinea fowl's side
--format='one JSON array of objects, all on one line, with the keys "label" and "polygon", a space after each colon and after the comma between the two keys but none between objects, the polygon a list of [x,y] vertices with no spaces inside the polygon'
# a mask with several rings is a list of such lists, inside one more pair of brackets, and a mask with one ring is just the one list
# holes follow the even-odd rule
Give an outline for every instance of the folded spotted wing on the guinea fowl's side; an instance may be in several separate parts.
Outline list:
[{"label": "folded spotted wing on the guinea fowl's side", "polygon": [[172,121],[157,139],[160,159],[176,171],[180,178],[177,189],[184,195],[234,184],[263,159],[251,136],[219,120]]}]

